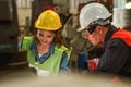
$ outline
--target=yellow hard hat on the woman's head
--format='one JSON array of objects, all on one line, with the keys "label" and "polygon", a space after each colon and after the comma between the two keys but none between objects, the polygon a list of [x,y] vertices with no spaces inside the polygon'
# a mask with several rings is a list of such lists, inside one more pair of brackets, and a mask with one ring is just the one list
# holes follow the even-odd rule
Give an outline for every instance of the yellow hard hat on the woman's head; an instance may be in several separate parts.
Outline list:
[{"label": "yellow hard hat on the woman's head", "polygon": [[52,10],[41,12],[35,22],[36,28],[46,30],[57,30],[61,26],[60,16]]}]

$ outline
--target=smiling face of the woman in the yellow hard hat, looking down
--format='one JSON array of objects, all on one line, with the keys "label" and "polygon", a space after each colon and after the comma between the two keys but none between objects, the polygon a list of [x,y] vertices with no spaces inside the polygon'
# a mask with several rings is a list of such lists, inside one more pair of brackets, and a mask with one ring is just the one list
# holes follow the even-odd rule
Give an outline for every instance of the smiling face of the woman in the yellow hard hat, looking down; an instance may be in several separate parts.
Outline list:
[{"label": "smiling face of the woman in the yellow hard hat, looking down", "polygon": [[37,30],[37,38],[41,45],[50,45],[53,41],[55,33],[50,30]]}]

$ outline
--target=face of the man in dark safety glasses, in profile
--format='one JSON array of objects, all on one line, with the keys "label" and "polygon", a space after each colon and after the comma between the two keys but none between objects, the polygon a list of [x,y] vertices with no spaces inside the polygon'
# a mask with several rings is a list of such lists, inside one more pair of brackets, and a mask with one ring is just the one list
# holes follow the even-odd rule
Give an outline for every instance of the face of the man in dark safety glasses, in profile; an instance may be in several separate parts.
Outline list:
[{"label": "face of the man in dark safety glasses, in profile", "polygon": [[100,26],[96,26],[95,30],[90,34],[90,32],[85,28],[84,30],[85,39],[88,39],[94,46],[97,46],[102,42],[103,37],[103,28]]}]

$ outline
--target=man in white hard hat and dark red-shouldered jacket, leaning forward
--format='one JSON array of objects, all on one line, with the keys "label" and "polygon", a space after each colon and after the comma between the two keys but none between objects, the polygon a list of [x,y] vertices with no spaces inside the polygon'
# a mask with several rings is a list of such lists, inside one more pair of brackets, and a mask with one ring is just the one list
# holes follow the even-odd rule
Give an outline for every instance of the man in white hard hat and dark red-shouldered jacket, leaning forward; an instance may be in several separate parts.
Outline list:
[{"label": "man in white hard hat and dark red-shouldered jacket, leaning forward", "polygon": [[100,3],[90,3],[80,12],[81,28],[94,46],[104,45],[98,71],[131,76],[131,33],[117,28],[109,18],[111,13]]}]

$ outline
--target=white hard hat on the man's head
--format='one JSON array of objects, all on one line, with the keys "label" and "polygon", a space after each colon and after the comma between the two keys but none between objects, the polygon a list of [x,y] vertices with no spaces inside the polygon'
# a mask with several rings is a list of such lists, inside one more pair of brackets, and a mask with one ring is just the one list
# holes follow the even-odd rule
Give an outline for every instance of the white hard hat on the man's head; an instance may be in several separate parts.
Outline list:
[{"label": "white hard hat on the man's head", "polygon": [[88,3],[83,7],[80,12],[79,18],[81,28],[79,28],[78,32],[83,30],[94,21],[99,18],[106,20],[109,16],[111,16],[111,13],[109,13],[109,11],[102,3]]}]

